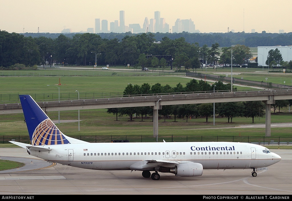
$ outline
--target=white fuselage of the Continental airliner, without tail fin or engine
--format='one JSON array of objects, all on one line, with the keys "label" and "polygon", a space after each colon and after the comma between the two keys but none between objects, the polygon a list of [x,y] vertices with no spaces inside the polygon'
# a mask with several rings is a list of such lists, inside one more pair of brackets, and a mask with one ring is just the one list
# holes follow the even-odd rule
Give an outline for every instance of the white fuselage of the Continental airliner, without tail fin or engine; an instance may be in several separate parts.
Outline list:
[{"label": "white fuselage of the Continental airliner, without tail fin or engine", "polygon": [[31,151],[31,155],[98,170],[131,170],[131,165],[145,160],[190,161],[201,163],[204,169],[260,168],[281,160],[279,155],[264,151],[267,148],[263,146],[239,142],[80,143],[39,147],[52,150]]}]

